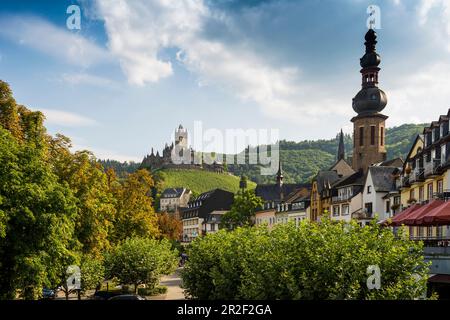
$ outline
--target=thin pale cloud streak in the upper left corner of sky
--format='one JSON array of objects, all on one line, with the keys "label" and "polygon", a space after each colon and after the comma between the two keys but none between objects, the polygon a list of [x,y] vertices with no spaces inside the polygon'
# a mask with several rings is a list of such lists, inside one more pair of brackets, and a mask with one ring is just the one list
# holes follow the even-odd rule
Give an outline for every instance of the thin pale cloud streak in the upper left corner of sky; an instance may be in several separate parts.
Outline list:
[{"label": "thin pale cloud streak in the upper left corner of sky", "polygon": [[94,42],[33,16],[0,16],[0,36],[81,67],[110,59]]}]

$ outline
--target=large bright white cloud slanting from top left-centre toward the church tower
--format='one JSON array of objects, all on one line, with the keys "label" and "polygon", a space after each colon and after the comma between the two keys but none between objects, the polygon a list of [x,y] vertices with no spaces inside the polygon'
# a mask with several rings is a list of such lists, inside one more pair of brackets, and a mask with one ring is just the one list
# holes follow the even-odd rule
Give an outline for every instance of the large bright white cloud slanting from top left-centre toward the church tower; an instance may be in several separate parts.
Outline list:
[{"label": "large bright white cloud slanting from top left-centre toward the church tower", "polygon": [[273,66],[245,41],[232,45],[203,36],[208,19],[233,28],[225,14],[212,13],[203,0],[96,3],[98,16],[105,22],[109,48],[120,59],[132,84],[143,86],[172,75],[170,61],[162,61],[158,53],[175,47],[180,50],[178,60],[198,75],[199,85],[228,90],[256,103],[269,117],[311,123],[324,109],[330,115],[343,113],[344,108],[336,108],[336,99],[328,91],[301,81],[298,67]]}]

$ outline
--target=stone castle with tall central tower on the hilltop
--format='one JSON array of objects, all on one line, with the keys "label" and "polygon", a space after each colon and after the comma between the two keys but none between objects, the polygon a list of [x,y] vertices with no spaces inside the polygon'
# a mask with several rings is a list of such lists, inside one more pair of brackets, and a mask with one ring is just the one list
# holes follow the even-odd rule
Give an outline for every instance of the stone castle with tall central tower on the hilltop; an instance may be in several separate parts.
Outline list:
[{"label": "stone castle with tall central tower on the hilltop", "polygon": [[144,157],[141,167],[150,170],[157,169],[204,169],[222,173],[224,167],[221,163],[214,161],[212,164],[206,164],[203,160],[203,154],[195,152],[193,148],[188,146],[188,131],[180,124],[175,130],[175,143],[171,145],[166,143],[162,155],[159,151],[154,153],[152,148],[151,154]]}]

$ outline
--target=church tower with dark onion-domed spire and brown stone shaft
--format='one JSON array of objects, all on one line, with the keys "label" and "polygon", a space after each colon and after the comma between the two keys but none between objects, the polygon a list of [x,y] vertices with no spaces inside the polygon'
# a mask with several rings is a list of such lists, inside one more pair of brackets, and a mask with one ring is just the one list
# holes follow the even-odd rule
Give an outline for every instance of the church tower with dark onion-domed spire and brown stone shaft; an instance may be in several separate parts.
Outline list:
[{"label": "church tower with dark onion-domed spire and brown stone shaft", "polygon": [[387,97],[378,88],[378,73],[381,59],[376,52],[377,34],[370,29],[365,36],[366,53],[360,59],[362,89],[353,98],[353,110],[358,114],[352,119],[353,170],[367,171],[372,164],[386,160],[385,121],[381,114],[386,107]]}]

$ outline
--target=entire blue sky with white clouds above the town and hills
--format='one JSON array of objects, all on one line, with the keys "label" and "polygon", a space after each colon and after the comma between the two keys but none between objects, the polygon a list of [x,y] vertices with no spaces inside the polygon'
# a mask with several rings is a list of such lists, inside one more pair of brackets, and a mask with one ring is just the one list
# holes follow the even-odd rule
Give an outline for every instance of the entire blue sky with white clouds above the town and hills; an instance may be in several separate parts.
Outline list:
[{"label": "entire blue sky with white clouds above the town and hills", "polygon": [[[141,161],[196,121],[292,141],[351,133],[369,5],[387,126],[450,107],[447,0],[1,2],[0,79],[49,133],[101,159]],[[66,25],[70,5],[80,30]]]}]

